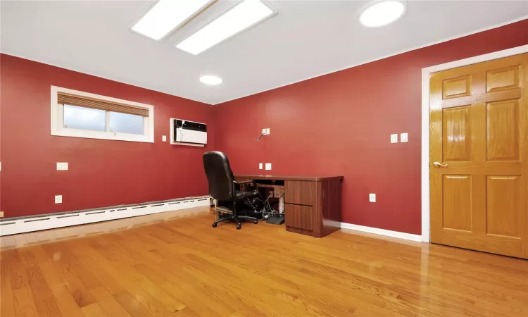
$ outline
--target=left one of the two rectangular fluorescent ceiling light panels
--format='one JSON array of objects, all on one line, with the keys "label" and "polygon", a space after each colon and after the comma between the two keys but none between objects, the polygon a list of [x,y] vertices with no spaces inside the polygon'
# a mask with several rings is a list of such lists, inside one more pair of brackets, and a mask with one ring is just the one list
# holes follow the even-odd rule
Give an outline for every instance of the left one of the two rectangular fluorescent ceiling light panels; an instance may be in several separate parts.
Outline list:
[{"label": "left one of the two rectangular fluorescent ceiling light panels", "polygon": [[152,39],[161,39],[213,1],[215,0],[160,0],[132,30]]}]

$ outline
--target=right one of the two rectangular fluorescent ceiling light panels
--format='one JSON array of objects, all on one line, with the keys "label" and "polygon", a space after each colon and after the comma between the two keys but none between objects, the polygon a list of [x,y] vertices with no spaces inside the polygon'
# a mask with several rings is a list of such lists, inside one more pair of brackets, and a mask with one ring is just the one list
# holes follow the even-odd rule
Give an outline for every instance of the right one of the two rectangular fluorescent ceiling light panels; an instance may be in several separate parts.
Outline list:
[{"label": "right one of the two rectangular fluorescent ceiling light panels", "polygon": [[184,39],[176,47],[194,55],[200,54],[211,46],[268,18],[273,13],[275,12],[271,8],[258,0],[246,0]]}]

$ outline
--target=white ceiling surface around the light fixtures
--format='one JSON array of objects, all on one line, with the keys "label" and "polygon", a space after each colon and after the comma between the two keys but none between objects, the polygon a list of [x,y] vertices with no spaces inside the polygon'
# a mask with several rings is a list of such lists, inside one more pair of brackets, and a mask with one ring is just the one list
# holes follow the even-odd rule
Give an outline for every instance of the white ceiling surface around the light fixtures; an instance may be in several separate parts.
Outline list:
[{"label": "white ceiling surface around the light fixtures", "polygon": [[[268,1],[277,15],[193,56],[175,42],[232,1],[218,1],[161,42],[130,30],[151,1],[1,1],[0,49],[219,104],[528,15],[528,1],[408,1],[396,23],[367,28],[357,16],[367,2]],[[204,74],[224,82],[203,85]]]}]

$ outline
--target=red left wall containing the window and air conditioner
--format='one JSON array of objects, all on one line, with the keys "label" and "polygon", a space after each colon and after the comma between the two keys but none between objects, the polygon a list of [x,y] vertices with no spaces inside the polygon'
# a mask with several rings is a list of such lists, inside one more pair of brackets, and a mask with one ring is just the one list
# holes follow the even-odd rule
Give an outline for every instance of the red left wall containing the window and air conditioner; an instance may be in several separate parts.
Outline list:
[{"label": "red left wall containing the window and air conditioner", "polygon": [[[63,68],[0,55],[0,210],[6,217],[208,193],[201,156],[214,149],[211,106]],[[50,86],[154,106],[155,142],[52,137]],[[208,123],[208,144],[161,142],[169,118]],[[56,170],[68,162],[68,171]],[[63,195],[63,204],[54,196]]]}]

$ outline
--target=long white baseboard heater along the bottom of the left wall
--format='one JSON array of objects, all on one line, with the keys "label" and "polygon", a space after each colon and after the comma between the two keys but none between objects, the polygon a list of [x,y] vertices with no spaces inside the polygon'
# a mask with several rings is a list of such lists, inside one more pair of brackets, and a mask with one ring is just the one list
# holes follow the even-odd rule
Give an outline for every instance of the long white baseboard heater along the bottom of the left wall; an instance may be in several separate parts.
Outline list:
[{"label": "long white baseboard heater along the bottom of the left wall", "polygon": [[152,213],[164,213],[165,211],[176,211],[201,206],[209,206],[208,196],[156,201],[151,204],[113,206],[107,209],[92,209],[80,212],[51,213],[13,219],[7,218],[0,221],[0,236],[63,228],[71,225],[99,223],[101,221],[145,216]]}]

